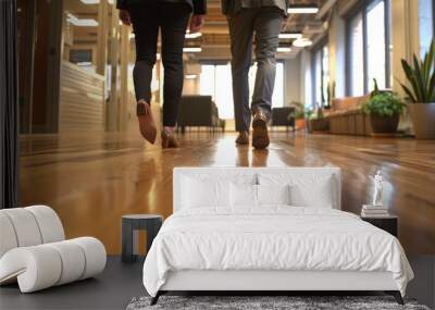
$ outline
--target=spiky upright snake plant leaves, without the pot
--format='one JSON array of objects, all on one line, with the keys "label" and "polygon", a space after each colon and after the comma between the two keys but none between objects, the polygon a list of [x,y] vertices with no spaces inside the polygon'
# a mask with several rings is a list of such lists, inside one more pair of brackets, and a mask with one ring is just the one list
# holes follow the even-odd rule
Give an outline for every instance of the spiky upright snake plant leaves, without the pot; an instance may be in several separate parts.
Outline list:
[{"label": "spiky upright snake plant leaves, without the pot", "polygon": [[401,60],[401,66],[409,80],[411,88],[401,84],[405,92],[413,103],[431,103],[435,102],[435,42],[432,40],[431,48],[421,61],[413,55],[413,63],[409,64],[406,60]]}]

